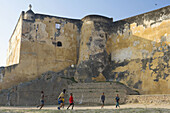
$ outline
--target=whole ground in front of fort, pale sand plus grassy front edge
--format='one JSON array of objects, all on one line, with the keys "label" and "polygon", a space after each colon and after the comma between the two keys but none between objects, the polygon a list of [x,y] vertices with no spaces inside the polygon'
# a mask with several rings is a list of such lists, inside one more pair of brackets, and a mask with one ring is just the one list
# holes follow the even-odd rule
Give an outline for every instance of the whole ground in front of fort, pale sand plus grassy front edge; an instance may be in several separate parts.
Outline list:
[{"label": "whole ground in front of fort, pale sand plus grassy front edge", "polygon": [[36,106],[0,106],[0,113],[170,113],[170,105],[145,105],[145,104],[125,104],[120,108],[115,106],[75,106],[74,110],[66,110],[67,105],[61,110],[56,106],[45,105],[42,110]]}]

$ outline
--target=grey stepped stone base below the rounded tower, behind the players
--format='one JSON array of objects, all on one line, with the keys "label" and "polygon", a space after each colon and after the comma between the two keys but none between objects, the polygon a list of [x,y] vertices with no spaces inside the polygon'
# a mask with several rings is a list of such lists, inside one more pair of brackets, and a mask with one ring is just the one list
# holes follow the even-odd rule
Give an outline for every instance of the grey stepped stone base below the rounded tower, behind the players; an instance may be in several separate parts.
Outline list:
[{"label": "grey stepped stone base below the rounded tower, behind the players", "polygon": [[[67,94],[73,93],[75,104],[99,105],[100,96],[105,93],[105,104],[115,104],[115,96],[119,94],[120,103],[124,103],[126,95],[138,94],[118,82],[74,83],[68,86]],[[68,97],[67,97],[68,100]]]}]

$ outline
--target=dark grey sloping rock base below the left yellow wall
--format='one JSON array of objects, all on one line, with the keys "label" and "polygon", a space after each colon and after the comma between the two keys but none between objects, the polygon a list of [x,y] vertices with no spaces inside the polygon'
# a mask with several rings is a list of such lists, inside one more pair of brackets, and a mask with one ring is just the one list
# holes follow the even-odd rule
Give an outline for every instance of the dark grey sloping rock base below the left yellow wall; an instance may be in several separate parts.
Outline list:
[{"label": "dark grey sloping rock base below the left yellow wall", "polygon": [[[1,90],[0,105],[36,106],[40,104],[41,91],[44,91],[46,105],[56,105],[57,98],[63,89],[66,89],[65,98],[68,98],[68,84],[75,83],[74,73],[75,68],[72,67],[58,73],[48,71],[38,79]],[[65,103],[68,103],[68,99],[65,100]]]}]

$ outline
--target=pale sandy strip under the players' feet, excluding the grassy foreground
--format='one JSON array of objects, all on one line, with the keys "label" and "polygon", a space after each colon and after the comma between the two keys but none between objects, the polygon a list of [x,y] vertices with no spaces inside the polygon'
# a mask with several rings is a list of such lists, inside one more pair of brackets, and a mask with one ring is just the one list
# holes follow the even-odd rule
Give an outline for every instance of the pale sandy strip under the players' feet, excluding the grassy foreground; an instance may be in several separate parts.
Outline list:
[{"label": "pale sandy strip under the players' feet, excluding the grassy foreground", "polygon": [[[68,105],[65,105],[65,108],[67,108]],[[45,110],[57,110],[58,106],[47,106],[45,105],[43,109]],[[70,107],[71,108],[71,107]],[[146,105],[146,104],[124,104],[120,105],[120,108],[118,109],[125,109],[125,108],[164,108],[164,109],[170,109],[170,105]],[[4,109],[37,109],[36,106],[0,106],[0,110]],[[74,110],[85,110],[85,109],[101,109],[101,106],[76,106],[74,107]],[[103,109],[116,109],[115,105],[111,106],[105,106]]]}]

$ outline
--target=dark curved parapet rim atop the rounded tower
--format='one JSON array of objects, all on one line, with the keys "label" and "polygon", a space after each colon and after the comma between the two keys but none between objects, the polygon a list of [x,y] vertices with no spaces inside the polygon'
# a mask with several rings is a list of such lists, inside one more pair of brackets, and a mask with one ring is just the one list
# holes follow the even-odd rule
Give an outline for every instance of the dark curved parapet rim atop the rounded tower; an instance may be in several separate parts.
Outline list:
[{"label": "dark curved parapet rim atop the rounded tower", "polygon": [[81,20],[83,22],[86,22],[86,21],[97,21],[97,22],[106,22],[106,23],[113,22],[113,18],[108,18],[108,17],[101,16],[101,15],[87,15]]}]

